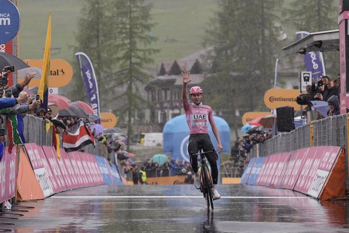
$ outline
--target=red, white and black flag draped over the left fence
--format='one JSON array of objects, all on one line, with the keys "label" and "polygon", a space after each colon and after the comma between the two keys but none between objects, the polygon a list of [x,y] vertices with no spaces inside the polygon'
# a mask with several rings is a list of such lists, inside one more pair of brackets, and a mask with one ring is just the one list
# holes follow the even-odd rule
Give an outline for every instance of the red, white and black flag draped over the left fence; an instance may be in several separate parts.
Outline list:
[{"label": "red, white and black flag draped over the left fence", "polygon": [[88,144],[95,145],[95,138],[91,131],[80,121],[79,128],[73,133],[63,133],[63,148],[67,152],[76,151]]}]

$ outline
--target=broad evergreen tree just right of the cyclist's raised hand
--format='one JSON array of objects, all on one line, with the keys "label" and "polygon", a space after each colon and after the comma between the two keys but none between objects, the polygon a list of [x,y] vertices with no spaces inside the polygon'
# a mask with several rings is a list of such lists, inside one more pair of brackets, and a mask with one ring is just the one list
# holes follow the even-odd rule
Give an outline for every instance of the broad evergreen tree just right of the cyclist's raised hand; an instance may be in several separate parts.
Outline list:
[{"label": "broad evergreen tree just right of the cyclist's raised hand", "polygon": [[[282,1],[220,1],[206,30],[213,46],[210,77],[203,86],[215,110],[228,110],[227,121],[237,135],[237,109],[255,110],[271,87],[280,50],[276,9]],[[206,91],[207,90],[207,91]]]}]

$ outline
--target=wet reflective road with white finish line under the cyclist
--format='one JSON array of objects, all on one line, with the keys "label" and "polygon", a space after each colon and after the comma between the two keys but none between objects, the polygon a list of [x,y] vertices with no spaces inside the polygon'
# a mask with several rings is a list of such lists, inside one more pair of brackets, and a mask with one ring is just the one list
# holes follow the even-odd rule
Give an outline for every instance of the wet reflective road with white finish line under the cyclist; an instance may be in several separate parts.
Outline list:
[{"label": "wet reflective road with white finish line under the cyclist", "polygon": [[[219,185],[207,212],[193,185],[100,185],[23,202],[13,232],[349,232],[347,201],[318,202],[301,193]],[[24,206],[34,207],[33,209]],[[12,216],[11,216],[12,217]]]}]

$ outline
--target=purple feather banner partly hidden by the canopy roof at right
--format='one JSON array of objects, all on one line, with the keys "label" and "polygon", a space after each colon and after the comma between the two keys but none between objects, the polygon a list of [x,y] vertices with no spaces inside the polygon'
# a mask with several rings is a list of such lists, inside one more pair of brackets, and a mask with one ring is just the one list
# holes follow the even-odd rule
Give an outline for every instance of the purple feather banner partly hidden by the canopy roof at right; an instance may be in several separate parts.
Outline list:
[{"label": "purple feather banner partly hidden by the canopy roof at right", "polygon": [[[310,33],[308,31],[297,31],[296,34],[298,40],[300,40]],[[324,58],[321,52],[308,52],[303,55],[303,58],[306,70],[312,72],[313,80],[318,81],[322,76],[326,75]]]}]

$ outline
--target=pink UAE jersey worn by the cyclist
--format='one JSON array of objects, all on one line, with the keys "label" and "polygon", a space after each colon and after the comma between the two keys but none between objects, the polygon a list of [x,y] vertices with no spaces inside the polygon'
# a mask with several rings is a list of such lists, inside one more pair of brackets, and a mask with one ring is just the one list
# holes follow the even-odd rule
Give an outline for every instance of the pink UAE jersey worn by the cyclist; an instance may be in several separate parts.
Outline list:
[{"label": "pink UAE jersey worn by the cyclist", "polygon": [[212,108],[207,105],[195,107],[183,100],[190,134],[208,134],[208,122],[213,122]]}]

